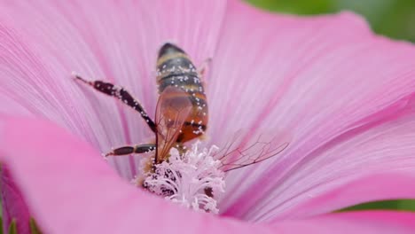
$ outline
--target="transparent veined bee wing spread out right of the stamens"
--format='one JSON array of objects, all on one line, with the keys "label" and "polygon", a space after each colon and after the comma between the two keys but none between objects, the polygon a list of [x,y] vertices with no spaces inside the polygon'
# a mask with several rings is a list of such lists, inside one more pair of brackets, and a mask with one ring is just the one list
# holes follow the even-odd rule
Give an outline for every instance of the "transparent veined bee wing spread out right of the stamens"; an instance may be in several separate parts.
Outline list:
[{"label": "transparent veined bee wing spread out right of the stamens", "polygon": [[264,133],[252,137],[239,130],[220,151],[215,152],[214,158],[221,160],[220,169],[227,172],[268,160],[283,152],[288,145],[282,135]]}]

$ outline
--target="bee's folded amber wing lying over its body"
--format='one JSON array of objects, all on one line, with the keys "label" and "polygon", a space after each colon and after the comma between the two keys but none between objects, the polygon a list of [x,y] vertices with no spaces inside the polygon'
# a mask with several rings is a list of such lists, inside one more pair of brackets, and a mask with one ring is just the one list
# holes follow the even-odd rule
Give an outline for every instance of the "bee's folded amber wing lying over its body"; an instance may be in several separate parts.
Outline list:
[{"label": "bee's folded amber wing lying over its body", "polygon": [[156,107],[156,163],[165,160],[187,117],[192,111],[189,94],[180,88],[168,87],[161,93]]}]

